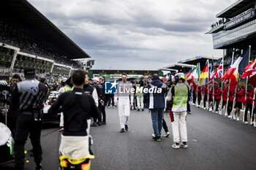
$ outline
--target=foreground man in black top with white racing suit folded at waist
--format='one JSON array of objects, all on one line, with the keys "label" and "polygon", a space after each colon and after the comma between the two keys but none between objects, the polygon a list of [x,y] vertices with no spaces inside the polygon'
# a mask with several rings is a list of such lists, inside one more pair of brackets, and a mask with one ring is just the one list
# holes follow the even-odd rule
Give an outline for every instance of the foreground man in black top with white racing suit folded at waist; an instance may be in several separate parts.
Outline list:
[{"label": "foreground man in black top with white racing suit folded at waist", "polygon": [[94,98],[83,90],[85,77],[83,70],[75,70],[72,74],[73,90],[61,94],[48,110],[49,114],[63,112],[64,131],[61,136],[60,152],[68,158],[90,156],[87,120],[89,117],[99,116]]}]

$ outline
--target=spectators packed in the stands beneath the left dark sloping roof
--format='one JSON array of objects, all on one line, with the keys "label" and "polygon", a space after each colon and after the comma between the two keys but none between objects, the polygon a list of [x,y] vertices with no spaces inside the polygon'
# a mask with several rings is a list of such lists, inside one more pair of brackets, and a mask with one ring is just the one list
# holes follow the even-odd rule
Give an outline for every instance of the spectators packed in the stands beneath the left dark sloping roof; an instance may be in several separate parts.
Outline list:
[{"label": "spectators packed in the stands beneath the left dark sloping roof", "polygon": [[0,42],[2,43],[19,47],[20,51],[25,53],[52,59],[56,63],[69,65],[75,69],[81,68],[79,61],[71,61],[67,55],[54,50],[48,43],[44,42],[44,40],[29,36],[26,31],[23,31],[23,29],[17,26],[12,26],[0,21],[0,30]]}]

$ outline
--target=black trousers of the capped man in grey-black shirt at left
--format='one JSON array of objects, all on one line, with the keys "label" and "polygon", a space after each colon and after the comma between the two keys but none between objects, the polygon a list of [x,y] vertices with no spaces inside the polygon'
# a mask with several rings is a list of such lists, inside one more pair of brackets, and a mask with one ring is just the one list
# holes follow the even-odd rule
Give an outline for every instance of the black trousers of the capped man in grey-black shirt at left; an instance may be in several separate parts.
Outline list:
[{"label": "black trousers of the capped man in grey-black shirt at left", "polygon": [[34,121],[32,115],[18,115],[15,128],[15,168],[23,169],[24,166],[24,145],[29,136],[33,146],[34,162],[38,165],[42,161],[42,147],[40,143],[42,122]]}]

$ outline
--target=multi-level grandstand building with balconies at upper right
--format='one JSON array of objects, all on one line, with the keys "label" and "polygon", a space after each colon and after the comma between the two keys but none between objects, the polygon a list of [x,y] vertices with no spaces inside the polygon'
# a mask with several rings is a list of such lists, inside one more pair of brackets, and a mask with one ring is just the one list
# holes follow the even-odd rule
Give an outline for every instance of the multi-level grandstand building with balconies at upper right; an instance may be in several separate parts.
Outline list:
[{"label": "multi-level grandstand building with balconies at upper right", "polygon": [[241,50],[251,45],[250,60],[253,61],[256,57],[256,1],[238,0],[216,17],[219,21],[206,33],[212,34],[214,49],[223,49],[225,61],[230,61],[233,49],[236,49],[236,59]]}]

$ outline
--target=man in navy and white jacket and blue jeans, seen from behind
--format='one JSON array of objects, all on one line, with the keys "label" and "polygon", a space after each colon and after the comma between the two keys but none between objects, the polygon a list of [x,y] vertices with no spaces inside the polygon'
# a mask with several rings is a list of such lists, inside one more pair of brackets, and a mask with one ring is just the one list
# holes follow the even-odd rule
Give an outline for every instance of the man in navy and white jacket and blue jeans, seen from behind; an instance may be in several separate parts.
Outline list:
[{"label": "man in navy and white jacket and blue jeans, seen from behind", "polygon": [[164,110],[166,107],[165,96],[167,94],[167,85],[159,80],[157,74],[153,75],[152,80],[153,81],[148,84],[144,90],[143,96],[146,101],[146,108],[151,110],[151,119],[154,129],[154,137],[152,140],[160,142]]}]

